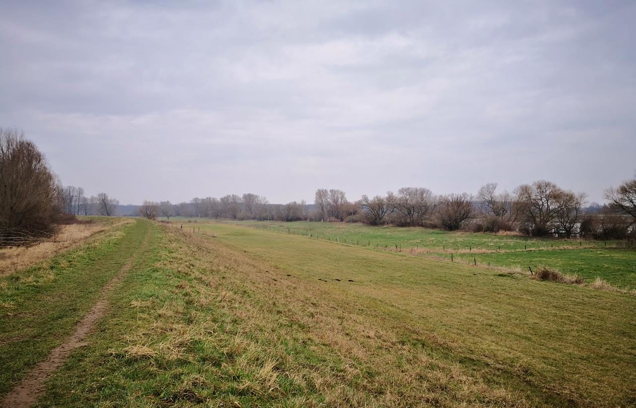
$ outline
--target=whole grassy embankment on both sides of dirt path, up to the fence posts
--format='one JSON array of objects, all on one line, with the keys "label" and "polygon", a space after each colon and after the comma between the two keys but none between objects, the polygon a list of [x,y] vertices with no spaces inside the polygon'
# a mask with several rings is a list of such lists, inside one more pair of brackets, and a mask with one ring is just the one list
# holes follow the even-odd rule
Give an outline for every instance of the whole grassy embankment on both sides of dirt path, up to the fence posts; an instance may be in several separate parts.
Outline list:
[{"label": "whole grassy embankment on both sides of dirt path, up to the fence posts", "polygon": [[635,296],[230,224],[109,237],[0,278],[0,395],[133,257],[38,406],[636,404]]}]

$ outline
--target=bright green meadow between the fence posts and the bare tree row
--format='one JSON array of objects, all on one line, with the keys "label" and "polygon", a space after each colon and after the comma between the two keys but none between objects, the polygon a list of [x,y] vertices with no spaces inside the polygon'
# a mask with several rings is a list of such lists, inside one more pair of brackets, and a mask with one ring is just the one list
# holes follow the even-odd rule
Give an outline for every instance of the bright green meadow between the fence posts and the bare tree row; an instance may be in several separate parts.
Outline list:
[{"label": "bright green meadow between the fence posts and the bare tree row", "polygon": [[[183,222],[177,220],[175,222]],[[185,220],[186,226],[190,226]],[[224,221],[228,222],[228,221]],[[579,275],[586,282],[600,276],[612,285],[636,289],[636,247],[625,248],[626,241],[588,241],[555,238],[529,238],[482,233],[447,232],[424,228],[371,227],[362,224],[330,222],[237,221],[233,224],[312,236],[369,246],[373,249],[401,249],[420,256],[487,266],[558,269]],[[289,230],[288,230],[289,228]]]}]

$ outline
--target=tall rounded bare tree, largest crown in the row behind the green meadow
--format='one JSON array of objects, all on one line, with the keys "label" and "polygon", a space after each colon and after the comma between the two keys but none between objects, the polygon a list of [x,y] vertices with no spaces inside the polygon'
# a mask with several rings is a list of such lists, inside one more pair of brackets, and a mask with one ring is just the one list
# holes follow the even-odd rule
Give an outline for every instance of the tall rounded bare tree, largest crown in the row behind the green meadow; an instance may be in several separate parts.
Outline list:
[{"label": "tall rounded bare tree, largest crown in the row behind the green meadow", "polygon": [[516,194],[523,230],[535,236],[553,233],[556,215],[562,211],[563,190],[552,182],[539,180],[517,187]]}]

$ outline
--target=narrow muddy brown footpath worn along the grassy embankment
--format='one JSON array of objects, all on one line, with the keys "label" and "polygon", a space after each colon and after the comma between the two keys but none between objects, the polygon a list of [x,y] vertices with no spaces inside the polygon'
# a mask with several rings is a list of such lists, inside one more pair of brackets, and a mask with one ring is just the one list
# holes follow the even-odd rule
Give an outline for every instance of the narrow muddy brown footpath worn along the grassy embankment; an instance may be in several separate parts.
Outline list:
[{"label": "narrow muddy brown footpath worn along the grassy embankment", "polygon": [[88,313],[75,326],[73,334],[68,337],[64,343],[54,348],[45,360],[39,362],[24,376],[24,379],[17,384],[2,400],[0,407],[2,408],[22,408],[30,407],[38,401],[40,395],[45,391],[46,380],[52,376],[59,367],[64,364],[71,352],[86,344],[85,339],[90,334],[95,323],[102,318],[108,309],[108,296],[118,283],[125,277],[137,256],[148,247],[151,230],[147,229],[144,239],[135,253],[121,267],[117,275],[113,276],[109,282],[102,288],[97,303],[93,305]]}]

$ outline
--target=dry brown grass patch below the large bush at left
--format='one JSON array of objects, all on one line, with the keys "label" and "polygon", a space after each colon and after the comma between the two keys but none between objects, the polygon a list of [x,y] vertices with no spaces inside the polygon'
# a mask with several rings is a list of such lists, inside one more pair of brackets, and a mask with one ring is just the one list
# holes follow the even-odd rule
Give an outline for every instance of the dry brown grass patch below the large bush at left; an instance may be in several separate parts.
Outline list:
[{"label": "dry brown grass patch below the large bush at left", "polygon": [[124,223],[131,222],[120,219],[117,222],[86,222],[60,226],[60,231],[51,240],[46,240],[31,247],[8,247],[0,249],[0,276],[10,275],[21,269],[33,266],[60,252],[78,247],[92,236]]}]

